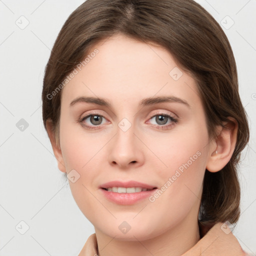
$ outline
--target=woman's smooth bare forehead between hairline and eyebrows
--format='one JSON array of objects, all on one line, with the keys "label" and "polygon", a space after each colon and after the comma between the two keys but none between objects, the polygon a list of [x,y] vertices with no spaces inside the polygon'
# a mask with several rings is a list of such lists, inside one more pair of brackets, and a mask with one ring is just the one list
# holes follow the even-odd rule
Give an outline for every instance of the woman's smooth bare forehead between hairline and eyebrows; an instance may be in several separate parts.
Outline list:
[{"label": "woman's smooth bare forehead between hairline and eyebrows", "polygon": [[61,101],[85,95],[122,104],[154,95],[182,97],[194,106],[200,101],[194,79],[178,67],[169,51],[122,34],[93,45],[86,62],[76,69]]}]

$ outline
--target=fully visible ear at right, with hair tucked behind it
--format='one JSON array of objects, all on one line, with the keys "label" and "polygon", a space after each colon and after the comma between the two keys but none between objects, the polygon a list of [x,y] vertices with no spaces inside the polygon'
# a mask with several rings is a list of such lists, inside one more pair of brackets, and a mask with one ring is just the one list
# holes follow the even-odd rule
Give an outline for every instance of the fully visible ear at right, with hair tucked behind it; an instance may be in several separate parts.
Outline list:
[{"label": "fully visible ear at right, with hair tucked behind it", "polygon": [[233,154],[238,123],[230,116],[228,119],[229,121],[222,123],[225,127],[218,126],[218,135],[210,142],[209,156],[206,164],[206,169],[210,172],[221,170]]}]

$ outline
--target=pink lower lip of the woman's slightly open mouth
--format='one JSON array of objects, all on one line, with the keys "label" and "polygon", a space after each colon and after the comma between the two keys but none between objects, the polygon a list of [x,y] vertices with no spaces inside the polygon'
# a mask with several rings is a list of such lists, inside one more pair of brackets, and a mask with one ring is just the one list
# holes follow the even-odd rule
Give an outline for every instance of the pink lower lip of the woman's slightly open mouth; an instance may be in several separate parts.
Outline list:
[{"label": "pink lower lip of the woman's slightly open mouth", "polygon": [[104,194],[104,196],[117,204],[133,204],[137,201],[140,201],[142,199],[145,199],[149,197],[152,193],[156,191],[157,188],[154,188],[149,191],[141,191],[141,192],[135,192],[135,193],[117,193],[117,192],[110,192],[103,188],[100,188]]}]

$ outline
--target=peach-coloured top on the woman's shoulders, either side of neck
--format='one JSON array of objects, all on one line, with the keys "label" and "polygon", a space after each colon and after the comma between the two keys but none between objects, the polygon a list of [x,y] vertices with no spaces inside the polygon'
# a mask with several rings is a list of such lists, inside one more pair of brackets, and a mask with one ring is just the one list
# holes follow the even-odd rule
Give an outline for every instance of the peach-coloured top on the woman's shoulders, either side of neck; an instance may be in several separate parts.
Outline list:
[{"label": "peach-coloured top on the woman's shoulders, either side of neck", "polygon": [[[224,223],[216,223],[203,237],[181,256],[246,256],[236,237]],[[97,256],[96,234],[91,234],[78,256]]]}]

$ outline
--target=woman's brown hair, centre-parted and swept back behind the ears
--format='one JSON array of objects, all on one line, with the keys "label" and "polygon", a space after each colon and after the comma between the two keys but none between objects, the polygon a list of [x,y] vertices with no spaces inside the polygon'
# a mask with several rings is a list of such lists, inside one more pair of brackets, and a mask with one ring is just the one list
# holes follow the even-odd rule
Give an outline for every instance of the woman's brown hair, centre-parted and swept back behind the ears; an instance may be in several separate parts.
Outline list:
[{"label": "woman's brown hair, centre-parted and swept back behind the ears", "polygon": [[[115,33],[166,48],[197,82],[209,138],[231,116],[238,123],[229,162],[217,172],[205,170],[200,223],[237,222],[240,187],[236,166],[249,139],[239,94],[236,64],[228,39],[215,19],[193,0],[86,0],[61,28],[45,68],[42,117],[52,123],[59,143],[61,91],[54,91],[95,43]],[[51,96],[49,96],[51,95]],[[222,125],[223,126],[223,125]]]}]

